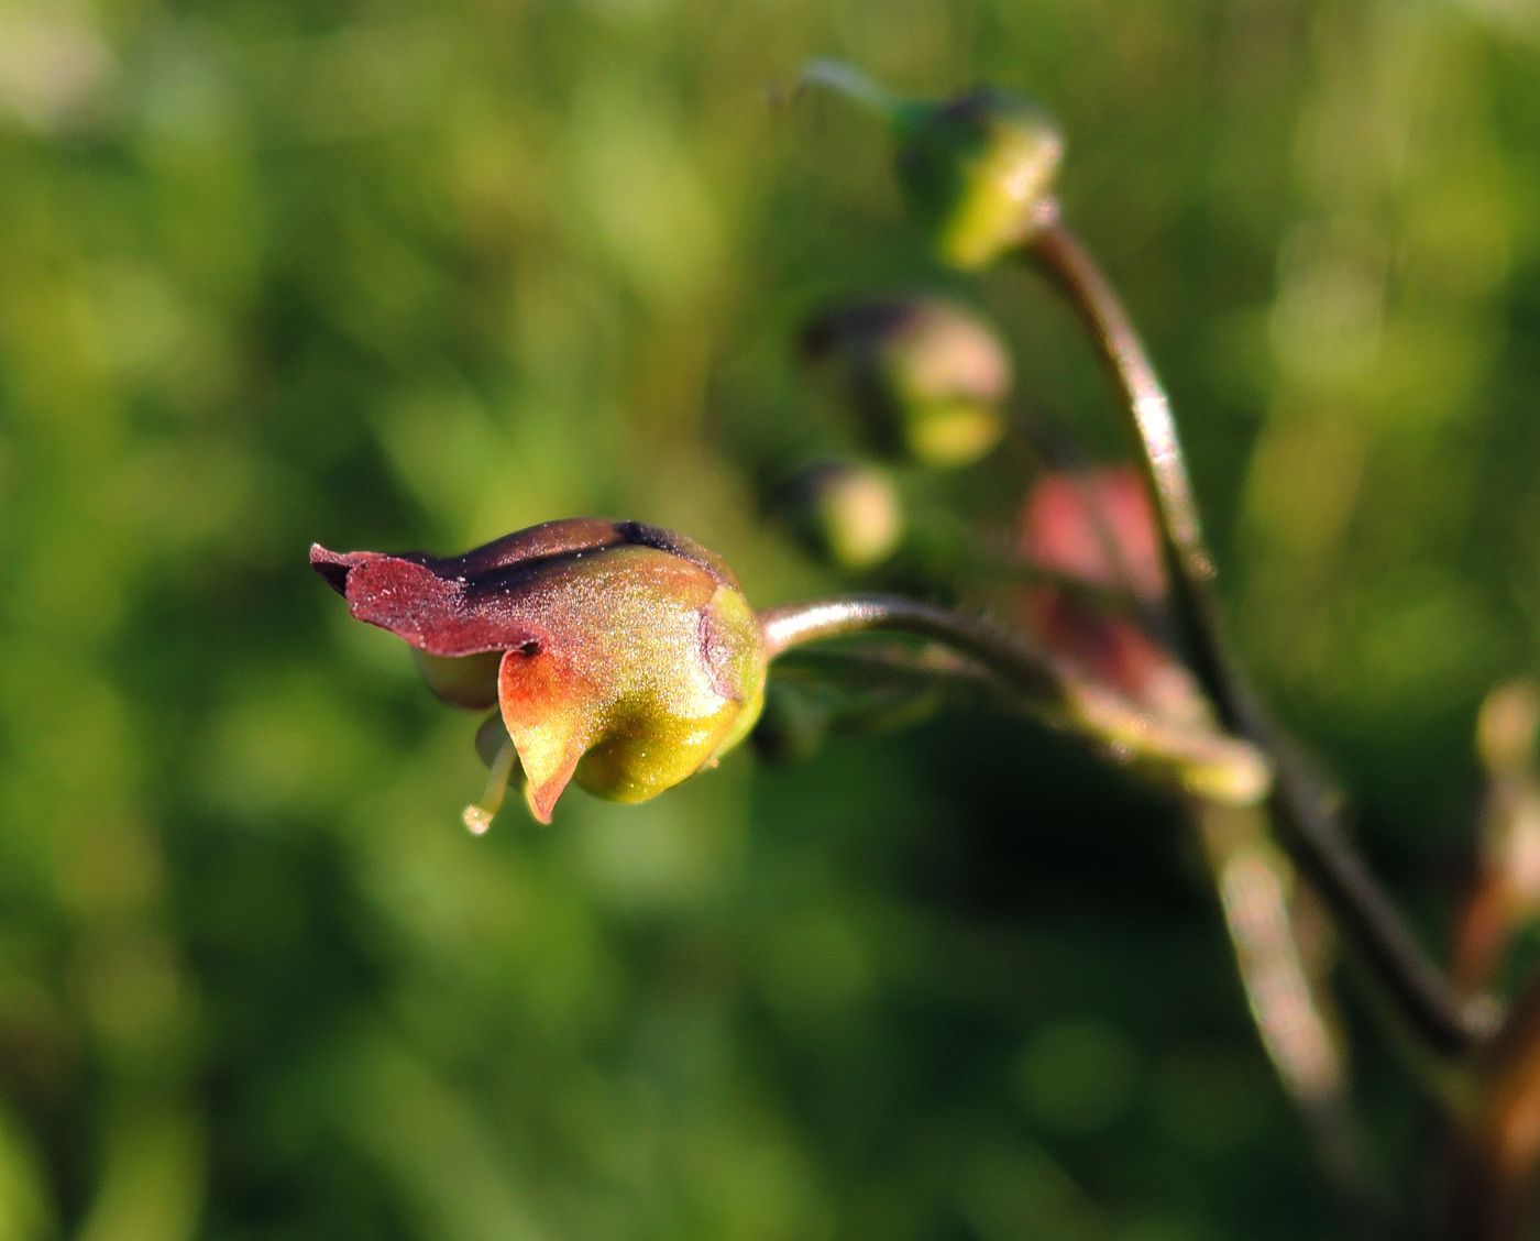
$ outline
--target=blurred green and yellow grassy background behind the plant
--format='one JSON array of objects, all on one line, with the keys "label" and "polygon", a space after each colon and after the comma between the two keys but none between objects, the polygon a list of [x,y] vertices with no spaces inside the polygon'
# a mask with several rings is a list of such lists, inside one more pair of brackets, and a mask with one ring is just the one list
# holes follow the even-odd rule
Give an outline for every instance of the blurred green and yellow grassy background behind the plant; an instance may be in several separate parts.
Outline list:
[{"label": "blurred green and yellow grassy background behind the plant", "polygon": [[473,839],[474,721],[305,567],[605,513],[829,590],[756,482],[844,443],[792,340],[870,289],[1120,450],[1063,308],[787,102],[812,55],[1061,119],[1238,645],[1443,950],[1537,671],[1532,3],[5,0],[0,1241],[1337,1235],[1147,791],[949,716]]}]

